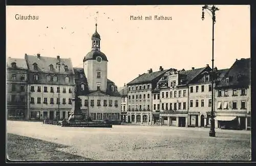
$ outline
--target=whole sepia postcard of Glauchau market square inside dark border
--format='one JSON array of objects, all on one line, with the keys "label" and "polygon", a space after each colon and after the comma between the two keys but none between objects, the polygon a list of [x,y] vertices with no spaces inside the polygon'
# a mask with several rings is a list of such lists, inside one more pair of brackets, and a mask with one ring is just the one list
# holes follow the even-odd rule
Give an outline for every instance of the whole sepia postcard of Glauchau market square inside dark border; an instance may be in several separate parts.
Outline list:
[{"label": "whole sepia postcard of Glauchau market square inside dark border", "polygon": [[250,161],[249,5],[6,7],[6,162]]}]

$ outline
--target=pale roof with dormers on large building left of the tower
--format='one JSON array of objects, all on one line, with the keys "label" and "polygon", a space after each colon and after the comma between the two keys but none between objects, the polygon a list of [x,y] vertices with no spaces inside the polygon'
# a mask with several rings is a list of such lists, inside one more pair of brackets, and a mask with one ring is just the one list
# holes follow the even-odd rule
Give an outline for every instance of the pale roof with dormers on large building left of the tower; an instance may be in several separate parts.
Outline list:
[{"label": "pale roof with dormers on large building left of the tower", "polygon": [[[51,73],[51,74],[66,74],[66,75],[74,75],[73,65],[71,62],[71,58],[59,58],[59,60],[53,57],[47,56],[34,56],[34,55],[25,55],[25,60],[28,65],[28,69],[30,72],[42,72],[42,73]],[[57,63],[60,61],[60,72],[58,71]],[[37,70],[33,69],[33,64],[37,64]],[[50,71],[49,66],[53,65],[53,70]],[[62,65],[63,64],[63,65]],[[65,71],[65,65],[68,66],[68,71]]]}]

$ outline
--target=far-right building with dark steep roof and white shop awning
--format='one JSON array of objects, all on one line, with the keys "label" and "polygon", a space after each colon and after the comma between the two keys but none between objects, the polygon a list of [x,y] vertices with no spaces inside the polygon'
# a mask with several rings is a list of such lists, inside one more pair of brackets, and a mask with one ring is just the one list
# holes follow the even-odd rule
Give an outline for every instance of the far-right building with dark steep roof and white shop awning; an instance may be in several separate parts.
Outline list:
[{"label": "far-right building with dark steep roof and white shop awning", "polygon": [[250,58],[236,60],[216,83],[216,128],[250,128],[250,89]]}]

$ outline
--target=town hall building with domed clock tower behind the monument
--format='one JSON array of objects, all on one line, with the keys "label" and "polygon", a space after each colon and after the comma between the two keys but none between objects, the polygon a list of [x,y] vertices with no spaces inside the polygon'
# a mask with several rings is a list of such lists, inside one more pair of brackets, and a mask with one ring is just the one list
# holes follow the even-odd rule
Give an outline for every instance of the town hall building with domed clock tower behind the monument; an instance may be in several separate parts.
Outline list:
[{"label": "town hall building with domed clock tower behind the monument", "polygon": [[82,111],[87,112],[92,120],[119,121],[121,96],[115,83],[108,79],[108,59],[100,51],[100,40],[96,24],[92,50],[83,58],[83,68],[77,72],[78,97]]}]

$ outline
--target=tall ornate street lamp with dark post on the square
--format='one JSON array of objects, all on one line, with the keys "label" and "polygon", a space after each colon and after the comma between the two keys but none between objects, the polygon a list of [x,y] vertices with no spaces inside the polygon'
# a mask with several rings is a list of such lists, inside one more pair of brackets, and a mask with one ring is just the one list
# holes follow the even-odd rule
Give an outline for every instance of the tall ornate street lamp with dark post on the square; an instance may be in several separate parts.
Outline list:
[{"label": "tall ornate street lamp with dark post on the square", "polygon": [[209,136],[215,136],[215,121],[214,121],[214,25],[216,22],[216,16],[215,11],[219,10],[217,7],[212,5],[212,7],[209,7],[208,5],[205,5],[202,7],[202,20],[204,20],[204,10],[208,10],[211,12],[211,18],[212,18],[212,73],[211,73],[211,119],[210,119],[210,131]]}]

